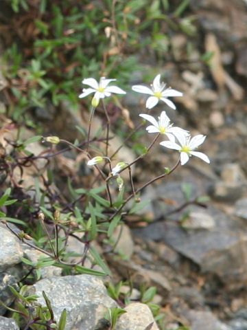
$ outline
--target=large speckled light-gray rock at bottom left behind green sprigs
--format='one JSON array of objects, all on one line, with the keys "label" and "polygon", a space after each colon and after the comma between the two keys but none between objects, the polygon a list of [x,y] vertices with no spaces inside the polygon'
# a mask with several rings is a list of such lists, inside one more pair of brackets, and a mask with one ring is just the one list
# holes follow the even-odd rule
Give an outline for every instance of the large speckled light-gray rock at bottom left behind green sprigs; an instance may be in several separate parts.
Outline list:
[{"label": "large speckled light-gray rock at bottom left behind green sprigs", "polygon": [[44,306],[43,291],[51,301],[56,320],[64,308],[67,310],[66,330],[95,330],[107,307],[117,307],[102,280],[94,276],[54,276],[38,281],[30,287],[29,294],[37,294],[37,303]]}]

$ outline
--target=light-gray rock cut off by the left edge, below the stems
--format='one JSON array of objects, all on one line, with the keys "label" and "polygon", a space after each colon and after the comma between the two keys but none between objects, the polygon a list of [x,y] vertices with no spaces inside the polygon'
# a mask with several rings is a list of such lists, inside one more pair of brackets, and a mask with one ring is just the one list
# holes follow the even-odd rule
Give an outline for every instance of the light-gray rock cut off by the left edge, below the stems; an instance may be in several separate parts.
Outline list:
[{"label": "light-gray rock cut off by the left edge, below the stems", "polygon": [[23,250],[19,240],[17,239],[5,225],[0,223],[1,234],[4,239],[1,241],[0,249],[0,272],[6,268],[21,263],[23,257]]}]

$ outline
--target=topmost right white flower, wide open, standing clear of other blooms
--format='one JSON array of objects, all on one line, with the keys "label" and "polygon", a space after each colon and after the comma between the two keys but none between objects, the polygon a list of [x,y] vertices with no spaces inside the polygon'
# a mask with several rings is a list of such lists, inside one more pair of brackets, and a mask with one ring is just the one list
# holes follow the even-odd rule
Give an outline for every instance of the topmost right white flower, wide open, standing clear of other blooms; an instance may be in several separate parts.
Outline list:
[{"label": "topmost right white flower, wide open, standing clear of other blooms", "polygon": [[168,100],[170,96],[183,96],[183,93],[172,88],[165,88],[165,83],[161,83],[161,75],[158,74],[151,85],[151,88],[145,87],[143,85],[132,86],[133,91],[137,93],[143,93],[151,95],[146,101],[145,107],[152,109],[158,103],[158,100],[162,100],[172,109],[176,109],[174,102]]}]

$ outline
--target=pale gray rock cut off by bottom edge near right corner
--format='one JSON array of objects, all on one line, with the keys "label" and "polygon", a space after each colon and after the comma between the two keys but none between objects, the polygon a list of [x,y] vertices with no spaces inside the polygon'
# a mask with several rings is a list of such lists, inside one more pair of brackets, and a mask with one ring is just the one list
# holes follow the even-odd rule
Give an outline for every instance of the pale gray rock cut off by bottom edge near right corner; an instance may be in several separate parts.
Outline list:
[{"label": "pale gray rock cut off by bottom edge near right corner", "polygon": [[231,327],[217,320],[211,311],[186,312],[185,317],[191,322],[191,330],[232,330]]}]

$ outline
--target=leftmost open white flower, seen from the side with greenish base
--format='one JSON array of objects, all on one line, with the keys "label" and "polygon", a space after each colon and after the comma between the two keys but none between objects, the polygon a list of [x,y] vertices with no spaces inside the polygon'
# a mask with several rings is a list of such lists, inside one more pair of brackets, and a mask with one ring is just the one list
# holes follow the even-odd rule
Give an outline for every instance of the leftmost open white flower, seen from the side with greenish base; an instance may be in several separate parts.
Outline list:
[{"label": "leftmost open white flower, seen from the side with greenish base", "polygon": [[82,84],[89,85],[90,88],[82,89],[82,94],[79,95],[79,98],[85,98],[89,94],[95,93],[92,104],[94,107],[97,107],[99,104],[99,99],[107,98],[111,93],[126,94],[126,91],[117,86],[108,86],[109,83],[115,80],[116,79],[106,79],[105,77],[101,77],[99,79],[99,83],[97,83],[97,80],[94,78],[83,79]]}]

